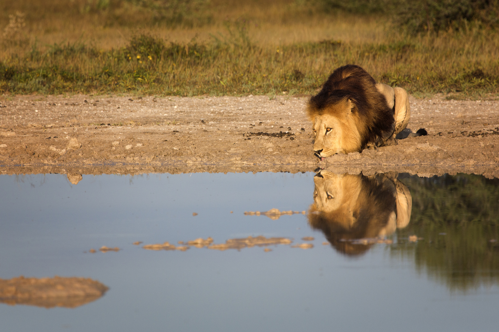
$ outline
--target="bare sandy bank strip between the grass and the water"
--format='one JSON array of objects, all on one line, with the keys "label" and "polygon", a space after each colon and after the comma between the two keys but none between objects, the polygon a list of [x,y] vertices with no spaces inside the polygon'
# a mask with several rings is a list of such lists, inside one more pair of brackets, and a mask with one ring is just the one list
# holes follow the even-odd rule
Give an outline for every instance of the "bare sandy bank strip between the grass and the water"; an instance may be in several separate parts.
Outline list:
[{"label": "bare sandy bank strip between the grass and the water", "polygon": [[411,98],[413,131],[378,151],[312,153],[306,97],[0,97],[0,174],[379,171],[499,176],[499,101]]}]

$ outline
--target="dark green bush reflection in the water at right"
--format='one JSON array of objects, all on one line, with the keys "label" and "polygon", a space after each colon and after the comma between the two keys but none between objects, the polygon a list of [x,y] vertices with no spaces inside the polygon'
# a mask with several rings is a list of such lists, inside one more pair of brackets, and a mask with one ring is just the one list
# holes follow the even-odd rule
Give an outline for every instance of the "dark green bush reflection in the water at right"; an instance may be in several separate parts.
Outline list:
[{"label": "dark green bush reflection in the water at right", "polygon": [[399,241],[395,250],[414,254],[418,270],[426,268],[451,289],[498,284],[499,179],[469,174],[399,179],[413,200],[411,222],[398,231],[399,239],[416,234],[423,240]]}]

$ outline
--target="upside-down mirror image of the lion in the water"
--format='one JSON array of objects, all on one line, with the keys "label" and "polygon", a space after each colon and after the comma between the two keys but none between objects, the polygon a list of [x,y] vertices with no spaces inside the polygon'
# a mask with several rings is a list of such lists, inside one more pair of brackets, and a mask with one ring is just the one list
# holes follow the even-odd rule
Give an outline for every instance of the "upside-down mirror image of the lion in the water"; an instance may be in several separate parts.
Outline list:
[{"label": "upside-down mirror image of the lion in the water", "polygon": [[308,222],[344,254],[363,254],[373,239],[383,239],[410,221],[411,194],[396,173],[364,176],[322,170],[314,185]]}]

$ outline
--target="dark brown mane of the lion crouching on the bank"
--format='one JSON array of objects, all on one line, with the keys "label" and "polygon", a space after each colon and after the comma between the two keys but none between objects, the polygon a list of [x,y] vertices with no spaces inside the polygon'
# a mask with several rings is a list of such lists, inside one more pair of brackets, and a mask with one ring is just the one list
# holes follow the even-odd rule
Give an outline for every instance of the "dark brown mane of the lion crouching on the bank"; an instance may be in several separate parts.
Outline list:
[{"label": "dark brown mane of the lion crouching on the bank", "polygon": [[336,69],[322,86],[322,90],[308,102],[308,115],[315,116],[328,112],[344,100],[350,99],[355,105],[362,122],[361,148],[368,142],[381,137],[383,141],[393,132],[394,111],[390,109],[385,96],[376,89],[376,81],[364,69],[356,65],[346,65]]}]

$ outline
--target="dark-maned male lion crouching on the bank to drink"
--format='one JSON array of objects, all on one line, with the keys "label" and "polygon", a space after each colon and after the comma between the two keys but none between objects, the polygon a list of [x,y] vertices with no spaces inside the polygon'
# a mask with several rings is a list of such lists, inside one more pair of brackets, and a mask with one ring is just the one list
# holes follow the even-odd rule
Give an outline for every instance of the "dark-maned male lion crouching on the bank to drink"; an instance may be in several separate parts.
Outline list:
[{"label": "dark-maned male lion crouching on the bank to drink", "polygon": [[307,114],[312,121],[313,151],[321,160],[336,153],[397,144],[396,135],[411,117],[404,89],[376,83],[356,65],[336,69],[310,98]]}]

